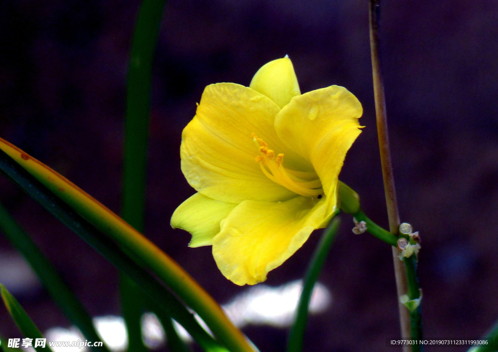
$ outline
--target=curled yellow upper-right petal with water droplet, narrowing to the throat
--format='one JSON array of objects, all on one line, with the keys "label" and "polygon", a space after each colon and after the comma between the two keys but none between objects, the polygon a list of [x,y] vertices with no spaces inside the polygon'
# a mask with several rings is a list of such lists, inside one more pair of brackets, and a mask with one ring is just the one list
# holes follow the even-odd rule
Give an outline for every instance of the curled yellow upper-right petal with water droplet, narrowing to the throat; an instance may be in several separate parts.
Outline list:
[{"label": "curled yellow upper-right petal with water droplet, narrowing to the throat", "polygon": [[363,108],[346,88],[331,86],[295,97],[275,117],[280,139],[311,161],[328,196],[328,211],[336,206],[336,188],[346,153],[361,133]]}]

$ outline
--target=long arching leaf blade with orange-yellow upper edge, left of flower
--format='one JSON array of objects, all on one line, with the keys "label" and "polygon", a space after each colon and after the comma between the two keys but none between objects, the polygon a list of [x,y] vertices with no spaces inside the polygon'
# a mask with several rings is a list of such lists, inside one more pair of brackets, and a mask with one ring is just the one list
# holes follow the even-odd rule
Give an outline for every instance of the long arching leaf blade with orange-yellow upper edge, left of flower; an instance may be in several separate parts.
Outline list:
[{"label": "long arching leaf blade with orange-yellow upper edge, left of flower", "polygon": [[[22,166],[57,197],[94,224],[97,229],[133,253],[133,258],[138,258],[144,263],[199,314],[213,334],[229,350],[233,352],[253,351],[245,336],[227,318],[220,305],[178,263],[149,239],[68,179],[1,138],[0,149],[7,153],[17,163],[16,165]],[[6,168],[8,168],[7,165],[13,167],[12,161],[3,159]],[[28,185],[26,187],[29,189]]]}]

